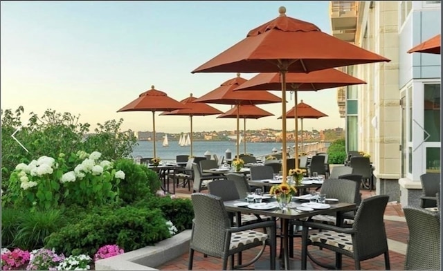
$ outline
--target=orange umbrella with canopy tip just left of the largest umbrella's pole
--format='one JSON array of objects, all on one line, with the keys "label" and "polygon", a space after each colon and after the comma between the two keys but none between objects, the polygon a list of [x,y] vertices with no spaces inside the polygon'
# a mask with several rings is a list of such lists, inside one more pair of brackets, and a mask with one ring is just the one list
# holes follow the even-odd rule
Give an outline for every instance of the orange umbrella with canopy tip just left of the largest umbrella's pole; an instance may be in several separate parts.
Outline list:
[{"label": "orange umbrella with canopy tip just left of the largest umbrella's pole", "polygon": [[272,104],[281,102],[280,97],[269,93],[268,91],[257,91],[251,93],[249,91],[234,91],[239,85],[247,80],[240,77],[230,79],[213,91],[206,93],[193,102],[207,102],[208,104],[234,104],[237,105],[237,157],[239,157],[239,107],[246,104]]}]

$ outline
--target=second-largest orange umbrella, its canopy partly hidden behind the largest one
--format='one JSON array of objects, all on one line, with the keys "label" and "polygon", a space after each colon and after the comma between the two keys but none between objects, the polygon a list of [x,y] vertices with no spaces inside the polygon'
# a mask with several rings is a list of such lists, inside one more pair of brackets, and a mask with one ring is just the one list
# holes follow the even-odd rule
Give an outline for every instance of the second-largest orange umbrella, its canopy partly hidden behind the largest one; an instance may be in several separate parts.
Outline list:
[{"label": "second-largest orange umbrella, its canopy partly hidden behind the largest one", "polygon": [[[298,108],[296,106],[298,102],[298,91],[320,91],[325,88],[336,88],[338,86],[350,86],[354,84],[366,84],[364,81],[359,80],[356,77],[336,70],[335,68],[327,68],[321,71],[313,71],[311,73],[287,73],[286,76],[286,89],[293,91],[294,93],[294,107],[292,112],[292,118],[295,119],[294,140],[295,140],[295,153],[294,156],[298,157]],[[235,88],[237,90],[278,90],[282,89],[282,82],[279,73],[259,73],[250,80]],[[302,112],[303,113],[303,112]],[[283,118],[280,117],[280,118]],[[302,122],[303,123],[303,122]],[[298,167],[298,161],[296,167]]]}]

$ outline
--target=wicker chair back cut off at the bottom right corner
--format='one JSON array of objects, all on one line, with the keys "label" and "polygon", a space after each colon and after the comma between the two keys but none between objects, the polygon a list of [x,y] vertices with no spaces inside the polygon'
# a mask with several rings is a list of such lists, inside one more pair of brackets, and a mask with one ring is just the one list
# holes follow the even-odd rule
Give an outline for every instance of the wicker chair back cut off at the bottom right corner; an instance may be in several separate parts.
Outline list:
[{"label": "wicker chair back cut off at the bottom right corner", "polygon": [[441,270],[440,212],[405,206],[409,229],[404,268],[407,270]]}]

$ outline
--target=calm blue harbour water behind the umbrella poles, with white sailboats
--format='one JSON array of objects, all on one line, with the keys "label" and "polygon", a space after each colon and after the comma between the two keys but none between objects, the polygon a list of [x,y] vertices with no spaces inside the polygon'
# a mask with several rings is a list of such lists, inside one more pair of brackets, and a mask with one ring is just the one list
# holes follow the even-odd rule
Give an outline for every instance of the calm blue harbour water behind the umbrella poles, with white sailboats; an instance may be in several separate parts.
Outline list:
[{"label": "calm blue harbour water behind the umbrella poles, with white sailboats", "polygon": [[[230,149],[232,157],[236,154],[235,142],[230,141],[195,141],[192,143],[192,155],[204,156],[206,151],[217,156],[224,156],[226,149]],[[289,146],[289,144],[288,144]],[[154,156],[153,144],[151,141],[138,141],[138,146],[134,147],[132,157],[152,157]],[[246,152],[253,153],[254,156],[263,156],[272,152],[273,148],[280,150],[282,143],[280,142],[246,142]],[[177,141],[170,141],[169,147],[163,147],[162,142],[156,142],[157,157],[163,160],[175,160],[175,156],[180,154],[190,155],[190,146],[180,147]],[[244,144],[240,144],[239,152],[244,153]]]}]

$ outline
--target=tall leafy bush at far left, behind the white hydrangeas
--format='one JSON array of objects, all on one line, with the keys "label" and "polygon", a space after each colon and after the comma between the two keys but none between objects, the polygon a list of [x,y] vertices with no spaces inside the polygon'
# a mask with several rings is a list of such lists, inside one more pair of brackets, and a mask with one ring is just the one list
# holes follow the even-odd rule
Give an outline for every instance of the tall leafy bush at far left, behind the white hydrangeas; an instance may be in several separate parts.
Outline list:
[{"label": "tall leafy bush at far left, behind the white hydrangeas", "polygon": [[[6,190],[12,170],[21,162],[28,163],[39,156],[57,157],[59,153],[75,153],[83,150],[91,153],[100,151],[102,159],[116,160],[128,157],[137,144],[134,133],[120,131],[123,119],[108,120],[98,124],[96,134],[89,135],[89,123],[80,123],[79,116],[71,113],[57,113],[48,109],[39,117],[31,112],[28,124],[22,127],[24,107],[14,112],[1,109],[1,187]],[[26,152],[11,137],[17,129],[15,138],[28,149]],[[86,138],[86,139],[85,139]]]}]

